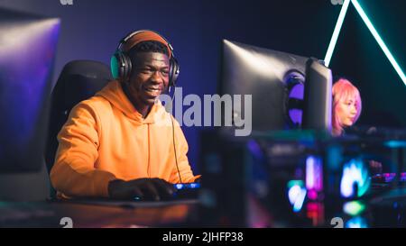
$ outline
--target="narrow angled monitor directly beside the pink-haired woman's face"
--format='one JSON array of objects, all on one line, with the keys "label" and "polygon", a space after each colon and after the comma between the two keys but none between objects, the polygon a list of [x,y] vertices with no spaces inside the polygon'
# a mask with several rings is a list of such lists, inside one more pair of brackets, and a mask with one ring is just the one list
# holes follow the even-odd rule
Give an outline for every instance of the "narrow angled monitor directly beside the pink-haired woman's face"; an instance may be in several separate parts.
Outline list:
[{"label": "narrow angled monitor directly beside the pink-haired woman's face", "polygon": [[332,83],[331,70],[310,58],[306,63],[303,129],[331,132]]}]

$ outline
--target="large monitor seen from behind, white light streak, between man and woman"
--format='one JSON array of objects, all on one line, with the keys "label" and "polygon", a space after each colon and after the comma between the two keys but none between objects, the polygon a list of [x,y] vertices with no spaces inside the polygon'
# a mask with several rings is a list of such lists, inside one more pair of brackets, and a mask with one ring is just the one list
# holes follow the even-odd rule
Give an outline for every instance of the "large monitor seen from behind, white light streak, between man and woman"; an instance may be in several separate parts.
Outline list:
[{"label": "large monitor seen from behind, white light streak, between man and woman", "polygon": [[[236,41],[222,46],[219,93],[252,95],[252,131],[299,128],[307,58]],[[245,116],[233,109],[238,114]]]}]

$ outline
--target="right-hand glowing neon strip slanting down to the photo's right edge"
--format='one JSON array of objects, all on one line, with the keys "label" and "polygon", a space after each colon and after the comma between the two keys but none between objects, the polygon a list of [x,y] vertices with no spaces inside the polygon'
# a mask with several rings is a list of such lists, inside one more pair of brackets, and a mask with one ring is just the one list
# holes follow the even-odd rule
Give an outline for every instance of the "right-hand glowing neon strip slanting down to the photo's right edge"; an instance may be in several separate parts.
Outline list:
[{"label": "right-hand glowing neon strip slanting down to the photo's right edge", "polygon": [[[366,16],[366,14],[364,13],[363,8],[361,7],[361,5],[358,4],[357,0],[351,0],[351,3],[353,3],[353,5],[355,6],[355,9],[358,12],[358,14],[361,15],[361,18],[363,19],[364,23],[368,27],[369,31],[374,35],[375,40],[378,42],[379,46],[381,46],[381,49],[383,50],[386,57],[391,62],[393,68],[396,70],[399,77],[401,77],[401,81],[403,81],[404,85],[406,86],[406,76],[404,75],[403,71],[401,70],[401,67],[399,66],[399,64],[393,58],[391,51],[389,51],[388,47],[386,47],[381,36],[379,36],[378,32],[376,32],[374,25],[371,23],[368,16]],[[343,6],[343,8],[344,8],[344,6]]]}]

